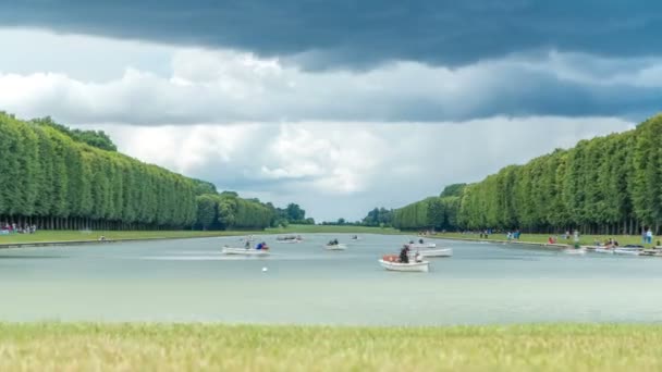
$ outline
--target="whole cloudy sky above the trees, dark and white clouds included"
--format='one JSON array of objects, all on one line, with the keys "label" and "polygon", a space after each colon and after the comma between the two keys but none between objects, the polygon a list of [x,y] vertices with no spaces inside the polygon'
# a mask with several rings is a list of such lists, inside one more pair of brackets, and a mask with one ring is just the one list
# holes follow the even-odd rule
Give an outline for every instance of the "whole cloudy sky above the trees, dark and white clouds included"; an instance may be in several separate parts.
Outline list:
[{"label": "whole cloudy sky above the trees, dark and white clouds included", "polygon": [[0,110],[318,221],[660,111],[662,2],[0,2]]}]

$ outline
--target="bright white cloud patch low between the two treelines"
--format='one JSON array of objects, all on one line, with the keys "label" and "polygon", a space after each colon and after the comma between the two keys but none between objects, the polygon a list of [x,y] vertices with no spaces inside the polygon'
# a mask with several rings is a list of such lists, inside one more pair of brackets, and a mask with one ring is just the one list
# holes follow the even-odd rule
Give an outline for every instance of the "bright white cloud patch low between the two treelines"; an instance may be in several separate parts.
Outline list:
[{"label": "bright white cloud patch low between the two treelines", "polygon": [[492,117],[463,123],[105,125],[120,149],[220,189],[298,202],[318,220],[357,220],[578,139],[632,128],[608,117]]}]

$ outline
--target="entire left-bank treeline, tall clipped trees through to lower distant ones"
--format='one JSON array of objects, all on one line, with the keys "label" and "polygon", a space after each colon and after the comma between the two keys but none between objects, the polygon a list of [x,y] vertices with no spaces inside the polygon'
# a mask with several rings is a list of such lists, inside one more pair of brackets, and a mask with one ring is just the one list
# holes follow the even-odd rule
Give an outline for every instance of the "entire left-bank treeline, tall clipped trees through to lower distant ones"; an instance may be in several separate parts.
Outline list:
[{"label": "entire left-bank treeline, tall clipped trees through to lower distant ones", "polygon": [[[39,228],[265,228],[305,219],[235,193],[218,194],[115,151],[103,132],[0,112],[0,224]],[[308,221],[309,222],[309,221]]]}]

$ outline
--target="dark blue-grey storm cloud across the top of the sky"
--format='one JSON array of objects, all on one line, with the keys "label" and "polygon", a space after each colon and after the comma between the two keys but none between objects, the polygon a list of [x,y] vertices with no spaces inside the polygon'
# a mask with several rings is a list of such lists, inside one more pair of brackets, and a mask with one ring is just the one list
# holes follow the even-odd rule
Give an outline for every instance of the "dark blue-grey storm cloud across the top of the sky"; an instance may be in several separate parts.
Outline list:
[{"label": "dark blue-grey storm cloud across the top of the sky", "polygon": [[662,51],[662,2],[646,0],[16,0],[0,3],[0,24],[234,48],[314,70],[462,65],[523,50]]}]

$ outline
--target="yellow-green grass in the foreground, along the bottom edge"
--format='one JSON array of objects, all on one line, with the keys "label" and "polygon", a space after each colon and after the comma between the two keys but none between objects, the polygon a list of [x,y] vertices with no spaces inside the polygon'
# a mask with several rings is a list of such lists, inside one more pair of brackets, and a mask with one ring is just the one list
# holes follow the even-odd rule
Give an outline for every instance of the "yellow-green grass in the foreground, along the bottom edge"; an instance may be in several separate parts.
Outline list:
[{"label": "yellow-green grass in the foreground, along the bottom edge", "polygon": [[0,324],[1,371],[660,371],[660,325]]}]

